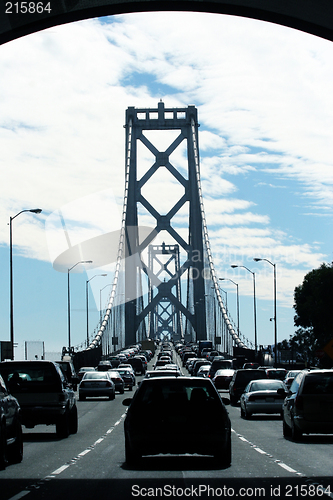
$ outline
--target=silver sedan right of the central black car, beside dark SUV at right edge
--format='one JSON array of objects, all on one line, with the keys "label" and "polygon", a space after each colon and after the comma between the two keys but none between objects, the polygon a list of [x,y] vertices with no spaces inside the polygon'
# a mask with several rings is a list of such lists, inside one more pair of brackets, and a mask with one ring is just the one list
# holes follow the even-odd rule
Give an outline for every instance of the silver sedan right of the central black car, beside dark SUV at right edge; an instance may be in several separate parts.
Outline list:
[{"label": "silver sedan right of the central black car, beside dark SUV at right edge", "polygon": [[240,397],[241,417],[248,419],[254,413],[279,413],[287,388],[282,380],[252,380]]}]

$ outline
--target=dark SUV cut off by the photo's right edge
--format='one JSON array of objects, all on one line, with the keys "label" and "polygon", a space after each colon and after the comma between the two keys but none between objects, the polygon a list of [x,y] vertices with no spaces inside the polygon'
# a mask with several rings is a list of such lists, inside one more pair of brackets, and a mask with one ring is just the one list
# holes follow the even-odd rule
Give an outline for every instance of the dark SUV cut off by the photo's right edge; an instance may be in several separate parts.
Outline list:
[{"label": "dark SUV cut off by the photo's right edge", "polygon": [[283,435],[333,434],[333,370],[302,370],[283,402]]}]

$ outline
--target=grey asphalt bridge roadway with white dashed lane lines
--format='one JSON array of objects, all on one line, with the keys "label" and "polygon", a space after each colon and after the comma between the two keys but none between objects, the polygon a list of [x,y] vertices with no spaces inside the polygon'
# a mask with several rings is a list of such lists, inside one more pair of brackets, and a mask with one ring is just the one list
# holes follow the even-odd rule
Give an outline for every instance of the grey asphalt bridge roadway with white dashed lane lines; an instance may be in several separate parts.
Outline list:
[{"label": "grey asphalt bridge roadway with white dashed lane lines", "polygon": [[333,498],[313,494],[318,483],[333,492],[333,436],[293,443],[283,438],[280,418],[245,421],[239,407],[228,406],[231,467],[218,469],[212,458],[199,456],[144,457],[139,467],[128,467],[122,400],[131,394],[78,401],[79,431],[68,439],[57,439],[53,426],[24,428],[23,462],[0,471],[1,500]]}]

